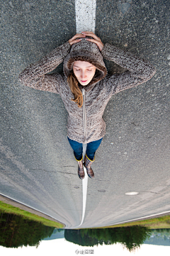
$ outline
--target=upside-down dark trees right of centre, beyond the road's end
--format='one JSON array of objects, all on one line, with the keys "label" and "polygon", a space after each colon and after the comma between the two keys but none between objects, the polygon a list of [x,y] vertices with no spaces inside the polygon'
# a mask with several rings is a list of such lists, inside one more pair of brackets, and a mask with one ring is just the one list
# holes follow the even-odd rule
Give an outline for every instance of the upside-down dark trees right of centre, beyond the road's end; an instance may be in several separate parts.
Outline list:
[{"label": "upside-down dark trees right of centre, beyond the road's end", "polygon": [[151,231],[143,226],[122,228],[94,228],[81,230],[65,230],[66,240],[82,246],[113,245],[121,243],[130,252],[140,247],[149,238]]}]

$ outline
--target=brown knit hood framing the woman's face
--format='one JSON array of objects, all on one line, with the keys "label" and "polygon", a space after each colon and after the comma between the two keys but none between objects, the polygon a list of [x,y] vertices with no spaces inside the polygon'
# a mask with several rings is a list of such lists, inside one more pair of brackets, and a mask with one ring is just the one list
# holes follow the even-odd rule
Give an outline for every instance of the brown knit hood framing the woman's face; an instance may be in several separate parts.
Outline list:
[{"label": "brown knit hood framing the woman's face", "polygon": [[96,43],[91,43],[83,38],[80,42],[72,45],[69,54],[64,58],[63,69],[66,77],[72,72],[73,63],[77,60],[90,62],[96,67],[96,74],[86,87],[96,84],[96,82],[106,77],[107,69],[103,62],[103,56]]}]

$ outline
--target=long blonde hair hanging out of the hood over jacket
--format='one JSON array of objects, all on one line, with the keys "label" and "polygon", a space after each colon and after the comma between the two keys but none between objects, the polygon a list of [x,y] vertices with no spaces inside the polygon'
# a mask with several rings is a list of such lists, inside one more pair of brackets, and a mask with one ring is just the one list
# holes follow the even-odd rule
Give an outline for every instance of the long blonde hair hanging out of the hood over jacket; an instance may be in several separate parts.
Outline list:
[{"label": "long blonde hair hanging out of the hood over jacket", "polygon": [[79,82],[77,77],[75,77],[74,72],[70,72],[69,77],[67,78],[67,82],[69,83],[69,87],[74,94],[74,99],[71,99],[71,101],[74,101],[79,106],[79,108],[81,108],[83,105],[83,95],[79,89]]}]

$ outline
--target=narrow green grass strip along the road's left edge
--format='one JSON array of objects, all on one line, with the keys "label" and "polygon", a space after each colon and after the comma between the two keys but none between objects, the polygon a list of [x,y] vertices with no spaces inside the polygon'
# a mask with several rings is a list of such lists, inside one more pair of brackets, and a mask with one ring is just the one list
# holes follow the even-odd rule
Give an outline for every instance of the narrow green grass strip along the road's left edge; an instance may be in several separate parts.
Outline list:
[{"label": "narrow green grass strip along the road's left edge", "polygon": [[45,226],[55,227],[55,228],[64,228],[64,225],[62,223],[50,221],[47,218],[43,218],[33,213],[29,213],[28,211],[21,210],[18,207],[11,206],[11,204],[5,204],[3,201],[0,201],[0,211],[1,210],[4,211],[5,213],[13,213],[16,215],[20,215],[23,218],[28,218],[32,221],[38,221]]}]

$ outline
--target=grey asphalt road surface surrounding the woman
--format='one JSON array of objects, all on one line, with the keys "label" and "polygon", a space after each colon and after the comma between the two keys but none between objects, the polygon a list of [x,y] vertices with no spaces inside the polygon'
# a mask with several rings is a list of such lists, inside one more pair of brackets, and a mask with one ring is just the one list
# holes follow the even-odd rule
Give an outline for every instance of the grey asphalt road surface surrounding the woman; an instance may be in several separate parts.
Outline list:
[{"label": "grey asphalt road surface surrounding the woman", "polygon": [[[0,2],[0,194],[72,228],[81,223],[82,183],[67,141],[67,111],[60,96],[24,87],[18,74],[76,33],[74,1]],[[169,29],[169,1],[97,1],[96,35],[149,60],[157,73],[106,107],[84,228],[170,211]],[[139,194],[125,195],[130,191]]]}]

